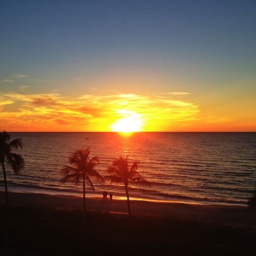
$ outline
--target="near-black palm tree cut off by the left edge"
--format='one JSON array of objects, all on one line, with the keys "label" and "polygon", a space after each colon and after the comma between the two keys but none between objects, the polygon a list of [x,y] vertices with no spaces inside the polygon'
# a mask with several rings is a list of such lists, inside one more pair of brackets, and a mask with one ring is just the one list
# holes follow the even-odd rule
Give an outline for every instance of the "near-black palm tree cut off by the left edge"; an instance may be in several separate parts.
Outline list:
[{"label": "near-black palm tree cut off by the left edge", "polygon": [[25,161],[21,155],[13,153],[14,149],[22,148],[22,140],[20,138],[10,141],[10,135],[6,131],[0,132],[0,162],[4,175],[4,187],[5,187],[5,204],[8,207],[8,191],[7,180],[5,171],[5,161],[11,166],[14,174],[18,174],[20,170],[25,166]]}]

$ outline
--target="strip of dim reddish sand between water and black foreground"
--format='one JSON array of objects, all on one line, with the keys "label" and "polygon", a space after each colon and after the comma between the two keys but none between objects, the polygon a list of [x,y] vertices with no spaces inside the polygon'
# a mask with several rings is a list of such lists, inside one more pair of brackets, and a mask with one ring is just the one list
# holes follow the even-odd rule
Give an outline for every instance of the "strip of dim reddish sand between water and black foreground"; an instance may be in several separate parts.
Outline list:
[{"label": "strip of dim reddish sand between water and black foreground", "polygon": [[[66,210],[82,210],[82,197],[46,195],[37,193],[8,192],[10,206],[46,207]],[[4,205],[4,192],[0,192],[0,204]],[[182,202],[130,201],[131,213],[136,216],[153,216],[182,220],[219,223],[256,229],[256,214],[244,206],[186,204]],[[127,215],[126,200],[87,198],[86,210]]]}]

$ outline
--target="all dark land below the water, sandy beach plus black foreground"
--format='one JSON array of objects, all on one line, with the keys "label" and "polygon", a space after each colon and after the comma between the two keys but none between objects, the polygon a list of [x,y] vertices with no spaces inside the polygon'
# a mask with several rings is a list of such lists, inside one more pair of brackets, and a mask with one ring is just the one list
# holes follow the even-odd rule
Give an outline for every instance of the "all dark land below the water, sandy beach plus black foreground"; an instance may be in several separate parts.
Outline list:
[{"label": "all dark land below the water, sandy beach plus black foreground", "polygon": [[0,255],[255,255],[246,207],[0,192]]}]

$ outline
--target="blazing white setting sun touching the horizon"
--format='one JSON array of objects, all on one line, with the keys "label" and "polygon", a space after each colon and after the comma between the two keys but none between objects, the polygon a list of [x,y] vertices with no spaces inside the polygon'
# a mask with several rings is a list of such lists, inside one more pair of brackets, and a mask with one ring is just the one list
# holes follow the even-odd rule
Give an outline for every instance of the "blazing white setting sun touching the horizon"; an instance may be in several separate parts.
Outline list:
[{"label": "blazing white setting sun touching the horizon", "polygon": [[138,115],[132,115],[127,118],[121,118],[112,125],[112,130],[115,132],[139,132],[141,131],[142,120]]}]

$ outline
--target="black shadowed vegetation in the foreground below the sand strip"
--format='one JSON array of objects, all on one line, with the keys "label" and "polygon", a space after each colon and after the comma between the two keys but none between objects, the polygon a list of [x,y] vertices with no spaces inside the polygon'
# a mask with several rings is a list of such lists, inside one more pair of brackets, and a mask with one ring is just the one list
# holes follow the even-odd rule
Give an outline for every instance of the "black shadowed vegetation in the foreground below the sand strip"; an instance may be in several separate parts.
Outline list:
[{"label": "black shadowed vegetation in the foreground below the sand strip", "polygon": [[255,255],[253,230],[170,218],[0,207],[0,255]]}]

